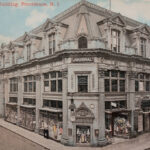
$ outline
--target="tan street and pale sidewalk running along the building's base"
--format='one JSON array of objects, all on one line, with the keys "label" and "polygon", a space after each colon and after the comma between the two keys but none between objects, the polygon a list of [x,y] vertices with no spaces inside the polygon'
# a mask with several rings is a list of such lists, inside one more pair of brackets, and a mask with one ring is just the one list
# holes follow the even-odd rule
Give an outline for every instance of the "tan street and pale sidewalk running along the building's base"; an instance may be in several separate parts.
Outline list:
[{"label": "tan street and pale sidewalk running along the building's base", "polygon": [[113,139],[113,144],[98,147],[66,147],[50,139],[0,119],[0,150],[144,150],[150,148],[150,133],[135,139]]}]

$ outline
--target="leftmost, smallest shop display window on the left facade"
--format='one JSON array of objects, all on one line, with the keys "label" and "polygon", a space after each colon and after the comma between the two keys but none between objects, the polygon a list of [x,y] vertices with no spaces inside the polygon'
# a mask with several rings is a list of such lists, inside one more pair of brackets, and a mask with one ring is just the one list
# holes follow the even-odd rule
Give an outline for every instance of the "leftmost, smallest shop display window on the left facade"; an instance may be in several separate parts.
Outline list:
[{"label": "leftmost, smallest shop display window on the left facade", "polygon": [[6,121],[17,124],[17,104],[16,103],[6,104]]}]

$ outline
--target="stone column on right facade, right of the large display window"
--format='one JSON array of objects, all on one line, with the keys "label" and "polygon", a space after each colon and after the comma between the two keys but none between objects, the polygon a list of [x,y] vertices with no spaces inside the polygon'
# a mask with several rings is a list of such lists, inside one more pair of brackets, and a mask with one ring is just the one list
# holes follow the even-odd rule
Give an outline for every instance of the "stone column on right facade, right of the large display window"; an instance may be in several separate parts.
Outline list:
[{"label": "stone column on right facade, right of the large display window", "polygon": [[136,73],[131,71],[128,74],[128,109],[131,110],[131,135],[135,133],[134,131],[134,112],[135,112],[135,75]]}]

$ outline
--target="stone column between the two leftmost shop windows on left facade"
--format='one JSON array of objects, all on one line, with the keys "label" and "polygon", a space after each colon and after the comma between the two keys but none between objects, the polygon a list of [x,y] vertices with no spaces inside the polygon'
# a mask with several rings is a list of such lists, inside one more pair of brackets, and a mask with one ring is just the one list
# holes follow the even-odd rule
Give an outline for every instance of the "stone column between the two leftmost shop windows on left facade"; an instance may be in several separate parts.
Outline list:
[{"label": "stone column between the two leftmost shop windows on left facade", "polygon": [[23,80],[22,76],[18,77],[18,103],[17,103],[17,125],[20,125],[20,106],[23,102]]}]

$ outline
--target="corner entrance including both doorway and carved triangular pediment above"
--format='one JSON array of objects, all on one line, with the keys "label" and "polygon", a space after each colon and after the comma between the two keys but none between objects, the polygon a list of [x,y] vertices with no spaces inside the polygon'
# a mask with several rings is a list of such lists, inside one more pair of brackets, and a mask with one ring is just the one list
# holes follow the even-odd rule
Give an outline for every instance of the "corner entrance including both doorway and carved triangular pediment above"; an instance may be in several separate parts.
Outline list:
[{"label": "corner entrance including both doorway and carved triangular pediment above", "polygon": [[[74,113],[72,113],[71,120],[73,128],[74,144],[76,145],[91,145],[94,135],[93,129],[93,112],[82,103]],[[71,130],[71,129],[70,129]],[[71,134],[70,134],[71,136]]]}]

